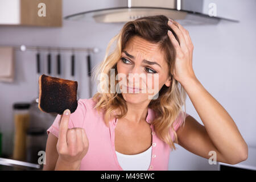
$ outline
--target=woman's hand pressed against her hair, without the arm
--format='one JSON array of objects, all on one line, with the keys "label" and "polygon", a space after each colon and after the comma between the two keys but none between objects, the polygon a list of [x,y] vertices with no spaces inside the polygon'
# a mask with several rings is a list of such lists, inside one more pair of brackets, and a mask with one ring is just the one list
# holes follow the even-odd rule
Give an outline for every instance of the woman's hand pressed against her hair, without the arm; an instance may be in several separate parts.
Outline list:
[{"label": "woman's hand pressed against her hair, without the arm", "polygon": [[172,28],[172,30],[175,31],[180,42],[179,44],[174,34],[172,34],[171,31],[168,31],[168,36],[176,50],[176,59],[173,75],[175,80],[179,81],[182,84],[182,82],[189,80],[190,78],[196,78],[192,68],[192,56],[194,46],[192,44],[188,31],[184,27],[171,19],[168,21],[168,25]]}]

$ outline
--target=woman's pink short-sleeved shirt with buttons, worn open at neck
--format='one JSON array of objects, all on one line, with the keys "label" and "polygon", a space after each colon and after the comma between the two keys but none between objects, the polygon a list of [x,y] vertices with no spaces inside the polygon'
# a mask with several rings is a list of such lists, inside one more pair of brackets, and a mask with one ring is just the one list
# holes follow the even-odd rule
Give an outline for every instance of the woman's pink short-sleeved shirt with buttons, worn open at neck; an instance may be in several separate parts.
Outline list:
[{"label": "woman's pink short-sleeved shirt with buttons, worn open at neck", "polygon": [[[93,109],[96,102],[92,98],[79,99],[77,109],[71,114],[68,128],[81,127],[85,129],[86,135],[89,140],[89,149],[87,154],[81,161],[80,170],[102,170],[102,171],[117,171],[123,170],[117,160],[115,154],[114,129],[118,119],[112,119],[109,122],[109,127],[104,123],[104,113],[98,113],[96,109]],[[186,113],[186,117],[189,114]],[[61,115],[57,115],[52,126],[47,130],[47,134],[51,132],[53,135],[58,137],[59,133],[59,119]],[[154,119],[154,110],[148,108],[146,121],[150,123]],[[182,124],[181,114],[174,123],[175,131]],[[151,123],[150,123],[151,125]],[[154,130],[154,126],[151,125],[152,130],[152,153],[151,162],[148,171],[153,170],[168,170],[169,156],[171,148],[168,144],[160,140]],[[170,129],[170,134],[174,140],[174,135]]]}]

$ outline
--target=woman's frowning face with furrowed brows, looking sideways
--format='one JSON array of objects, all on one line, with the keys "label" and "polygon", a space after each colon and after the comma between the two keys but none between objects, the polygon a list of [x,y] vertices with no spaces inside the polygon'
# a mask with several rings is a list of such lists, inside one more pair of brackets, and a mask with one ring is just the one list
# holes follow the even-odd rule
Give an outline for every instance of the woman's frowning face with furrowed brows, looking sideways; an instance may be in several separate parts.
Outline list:
[{"label": "woman's frowning face with furrowed brows, looking sideways", "polygon": [[117,72],[123,98],[131,103],[152,99],[164,84],[171,84],[168,65],[158,45],[139,36],[127,42],[117,63]]}]

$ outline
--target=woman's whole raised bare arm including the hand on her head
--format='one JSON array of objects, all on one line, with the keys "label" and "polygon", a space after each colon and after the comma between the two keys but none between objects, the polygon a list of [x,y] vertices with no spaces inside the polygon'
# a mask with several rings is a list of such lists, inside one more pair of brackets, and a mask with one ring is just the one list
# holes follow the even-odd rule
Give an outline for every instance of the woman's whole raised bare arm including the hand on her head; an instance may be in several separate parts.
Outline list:
[{"label": "woman's whole raised bare arm including the hand on her head", "polygon": [[174,20],[168,21],[172,31],[168,35],[176,51],[173,75],[186,90],[204,126],[187,117],[185,129],[177,131],[179,140],[189,151],[207,156],[216,151],[217,158],[230,164],[247,159],[248,147],[233,119],[197,80],[192,68],[193,43],[189,32]]}]

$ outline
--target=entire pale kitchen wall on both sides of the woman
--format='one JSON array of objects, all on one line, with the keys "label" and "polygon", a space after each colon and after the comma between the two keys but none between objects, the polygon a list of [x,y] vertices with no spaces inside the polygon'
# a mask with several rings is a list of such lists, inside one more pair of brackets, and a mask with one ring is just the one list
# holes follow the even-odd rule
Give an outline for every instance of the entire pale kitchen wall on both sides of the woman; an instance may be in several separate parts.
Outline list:
[{"label": "entire pale kitchen wall on both sides of the woman", "polygon": [[[114,1],[63,1],[63,16],[81,11],[111,7]],[[214,1],[210,1],[214,2]],[[185,27],[195,46],[193,68],[197,78],[210,94],[232,116],[242,136],[249,146],[256,146],[256,93],[255,86],[255,28],[256,1],[215,1],[217,14],[238,19],[240,23],[222,21],[216,26]],[[206,1],[208,3],[208,1]],[[225,8],[223,7],[225,6]],[[218,11],[219,10],[219,11]],[[69,22],[64,20],[61,28],[39,27],[0,27],[1,45],[35,45],[63,47],[98,47],[100,52],[93,55],[93,65],[102,61],[109,40],[121,30],[123,24],[97,24]],[[69,78],[69,55],[65,53],[65,67]],[[80,82],[81,97],[88,98],[86,85],[85,54],[79,54],[80,67],[76,79]],[[46,60],[44,60],[46,61]],[[83,61],[83,62],[82,62]],[[78,67],[78,63],[77,63]],[[44,70],[46,71],[46,65]],[[16,52],[15,82],[0,82],[0,119],[4,135],[3,151],[10,150],[8,143],[13,122],[12,104],[17,101],[31,101],[37,97],[35,52]],[[81,79],[83,78],[83,79]],[[95,93],[96,89],[94,88]],[[187,112],[197,119],[191,101],[187,100]],[[48,122],[48,125],[51,121]],[[5,138],[6,136],[6,138]],[[170,170],[212,170],[216,165],[209,165],[208,160],[196,156],[177,145],[178,150],[171,152]]]}]

